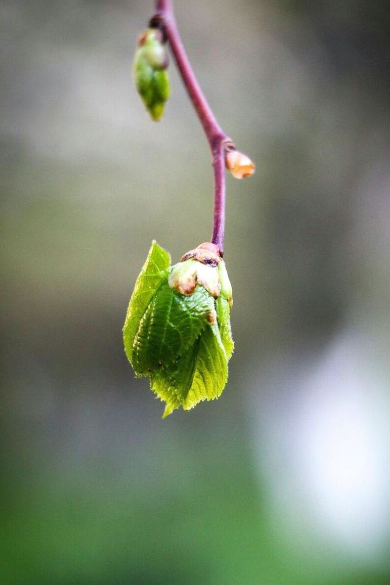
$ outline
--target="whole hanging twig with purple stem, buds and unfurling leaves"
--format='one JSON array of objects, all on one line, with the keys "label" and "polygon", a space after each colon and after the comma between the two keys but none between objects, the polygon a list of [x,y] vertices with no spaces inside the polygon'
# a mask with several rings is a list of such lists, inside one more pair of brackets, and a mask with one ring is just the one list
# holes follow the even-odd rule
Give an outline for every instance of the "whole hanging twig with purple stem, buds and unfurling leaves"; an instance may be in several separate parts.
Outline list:
[{"label": "whole hanging twig with purple stem, buds and unfurling leaves", "polygon": [[168,252],[152,243],[127,309],[123,328],[126,355],[137,376],[148,376],[151,390],[167,403],[163,418],[180,405],[188,410],[199,401],[218,398],[227,382],[234,342],[230,330],[232,285],[222,259],[225,167],[237,178],[254,173],[252,161],[236,150],[218,125],[196,81],[171,0],[156,0],[156,13],[140,35],[134,57],[134,81],[151,118],[161,118],[170,94],[167,41],[212,152],[214,215],[212,241],[189,250],[172,267]]}]

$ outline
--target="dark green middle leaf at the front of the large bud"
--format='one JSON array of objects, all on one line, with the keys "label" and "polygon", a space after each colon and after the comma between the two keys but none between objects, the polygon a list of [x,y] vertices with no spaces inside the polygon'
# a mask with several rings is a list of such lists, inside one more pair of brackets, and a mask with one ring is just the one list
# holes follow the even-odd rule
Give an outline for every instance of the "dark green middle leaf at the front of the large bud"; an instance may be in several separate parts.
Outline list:
[{"label": "dark green middle leaf at the front of the large bud", "polygon": [[132,365],[136,373],[149,375],[175,363],[195,343],[213,309],[214,300],[203,287],[185,296],[163,281],[134,337]]}]

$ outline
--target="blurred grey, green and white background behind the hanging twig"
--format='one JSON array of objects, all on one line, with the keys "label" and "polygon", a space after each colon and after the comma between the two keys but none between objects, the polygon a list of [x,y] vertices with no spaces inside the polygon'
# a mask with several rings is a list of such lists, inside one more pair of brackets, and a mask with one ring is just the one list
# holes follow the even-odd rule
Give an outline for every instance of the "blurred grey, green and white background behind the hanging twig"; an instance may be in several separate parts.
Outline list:
[{"label": "blurred grey, green and white background behind the hanging twig", "polygon": [[209,239],[212,168],[141,0],[2,0],[0,581],[390,582],[390,17],[357,0],[175,2],[220,124],[236,351],[161,420],[122,326],[151,240]]}]

